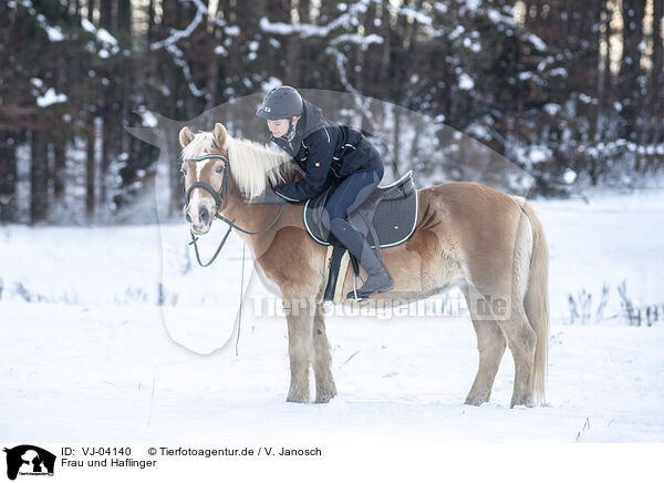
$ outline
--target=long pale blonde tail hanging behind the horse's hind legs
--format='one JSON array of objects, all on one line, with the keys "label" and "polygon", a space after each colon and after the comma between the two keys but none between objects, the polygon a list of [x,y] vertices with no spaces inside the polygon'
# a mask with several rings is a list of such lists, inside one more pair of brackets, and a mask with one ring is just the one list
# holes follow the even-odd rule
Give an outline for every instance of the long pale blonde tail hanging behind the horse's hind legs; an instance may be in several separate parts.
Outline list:
[{"label": "long pale blonde tail hanging behind the horse's hind legs", "polygon": [[549,247],[542,224],[532,205],[522,204],[522,209],[532,227],[532,254],[528,287],[523,298],[523,308],[530,327],[537,335],[535,360],[532,364],[531,384],[535,405],[546,403],[544,380],[547,378],[549,347]]}]

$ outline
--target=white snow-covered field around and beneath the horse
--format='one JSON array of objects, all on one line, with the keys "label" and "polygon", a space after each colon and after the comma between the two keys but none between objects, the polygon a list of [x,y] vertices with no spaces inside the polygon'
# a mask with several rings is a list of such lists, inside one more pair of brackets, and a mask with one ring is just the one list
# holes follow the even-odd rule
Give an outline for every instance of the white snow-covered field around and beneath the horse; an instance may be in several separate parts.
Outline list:
[{"label": "white snow-covered field around and beneath the horse", "polygon": [[[290,404],[286,321],[256,314],[255,300],[269,299],[250,261],[239,354],[235,340],[205,354],[232,332],[237,238],[200,269],[184,225],[0,227],[0,434],[104,444],[664,442],[664,321],[626,326],[616,290],[626,280],[636,307],[662,308],[664,193],[535,205],[551,250],[548,405],[511,410],[509,352],[491,402],[463,404],[477,366],[467,319],[330,316],[339,395]],[[603,320],[569,325],[568,295],[591,292],[594,316],[602,284]]]}]

